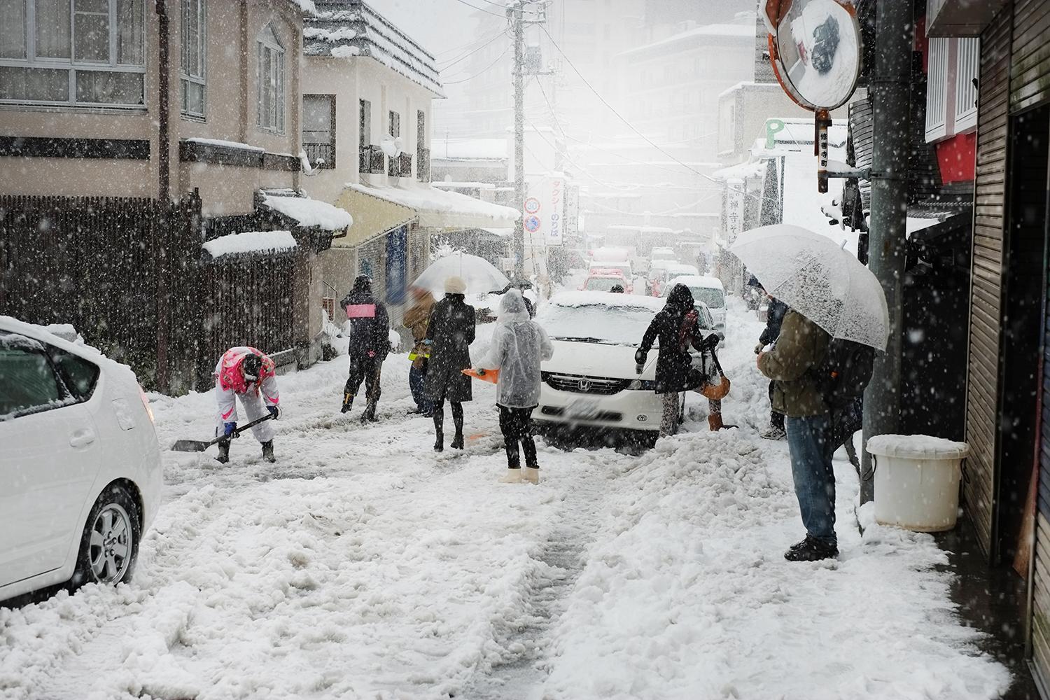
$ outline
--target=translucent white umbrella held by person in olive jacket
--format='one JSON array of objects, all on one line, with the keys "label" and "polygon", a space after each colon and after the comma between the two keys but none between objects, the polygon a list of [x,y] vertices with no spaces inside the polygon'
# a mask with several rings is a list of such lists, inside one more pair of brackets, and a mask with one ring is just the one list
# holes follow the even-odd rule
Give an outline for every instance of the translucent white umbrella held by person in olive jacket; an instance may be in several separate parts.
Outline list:
[{"label": "translucent white umbrella held by person in olive jacket", "polygon": [[834,240],[798,226],[744,231],[730,247],[766,293],[827,331],[885,351],[886,295],[872,271]]}]

